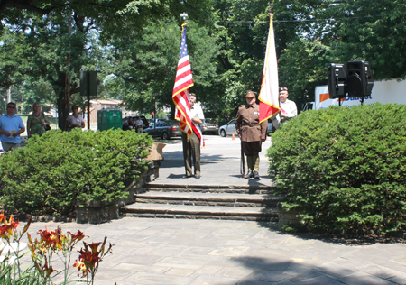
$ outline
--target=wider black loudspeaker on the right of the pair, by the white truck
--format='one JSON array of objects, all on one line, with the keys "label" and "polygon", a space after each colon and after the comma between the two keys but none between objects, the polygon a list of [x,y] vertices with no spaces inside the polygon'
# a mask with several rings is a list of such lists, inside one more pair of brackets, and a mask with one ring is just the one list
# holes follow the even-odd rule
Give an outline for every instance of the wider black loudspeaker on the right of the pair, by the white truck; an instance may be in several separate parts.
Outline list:
[{"label": "wider black loudspeaker on the right of the pair, by the white truck", "polygon": [[368,61],[348,61],[346,64],[348,97],[366,97],[374,87]]}]

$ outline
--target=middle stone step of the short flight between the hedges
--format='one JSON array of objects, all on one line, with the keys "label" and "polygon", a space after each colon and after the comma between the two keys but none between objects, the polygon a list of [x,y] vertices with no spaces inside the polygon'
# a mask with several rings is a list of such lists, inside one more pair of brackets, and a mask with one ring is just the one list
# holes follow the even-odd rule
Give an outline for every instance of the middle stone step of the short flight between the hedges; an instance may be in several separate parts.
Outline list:
[{"label": "middle stone step of the short flight between the hedges", "polygon": [[273,194],[235,194],[216,192],[148,191],[134,195],[135,203],[190,206],[276,207],[281,196]]}]

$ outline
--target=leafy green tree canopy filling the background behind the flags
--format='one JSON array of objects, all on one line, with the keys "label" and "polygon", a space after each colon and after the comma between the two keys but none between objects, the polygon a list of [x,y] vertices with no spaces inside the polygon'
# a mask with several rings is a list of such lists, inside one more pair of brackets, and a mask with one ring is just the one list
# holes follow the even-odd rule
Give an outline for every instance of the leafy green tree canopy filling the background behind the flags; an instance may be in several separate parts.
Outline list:
[{"label": "leafy green tree canopy filling the background behind the flags", "polygon": [[[81,70],[99,71],[99,96],[149,112],[171,106],[180,14],[189,15],[197,93],[228,119],[248,89],[259,91],[269,28],[264,0],[0,1],[0,87],[17,87],[59,106],[78,97]],[[182,4],[183,3],[183,4]],[[406,78],[406,0],[273,0],[280,86],[301,103],[327,84],[328,64],[367,60],[374,79]],[[153,97],[158,93],[158,97]],[[60,122],[63,128],[64,122]]]}]

